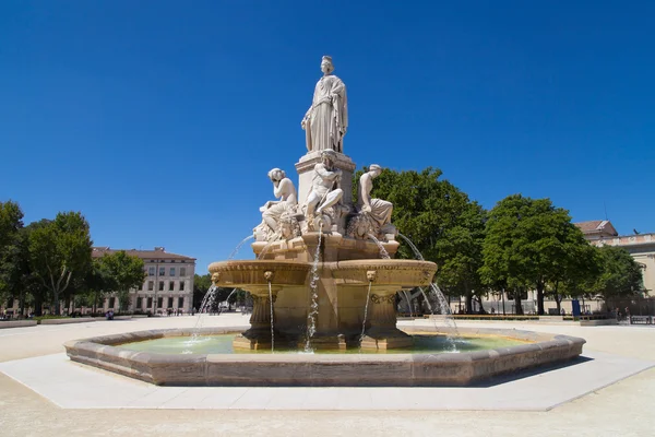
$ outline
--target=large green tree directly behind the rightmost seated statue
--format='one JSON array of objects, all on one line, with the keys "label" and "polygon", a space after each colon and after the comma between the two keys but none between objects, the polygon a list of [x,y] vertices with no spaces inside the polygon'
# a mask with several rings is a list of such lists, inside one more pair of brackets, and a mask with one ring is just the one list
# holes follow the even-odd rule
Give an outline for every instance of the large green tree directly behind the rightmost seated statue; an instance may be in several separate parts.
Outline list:
[{"label": "large green tree directly behind the rightmost seated statue", "polygon": [[[355,199],[362,173],[355,175]],[[426,260],[439,265],[437,281],[444,292],[467,296],[471,311],[474,291],[484,293],[478,268],[486,212],[466,193],[440,179],[441,175],[431,167],[420,173],[386,169],[376,179],[371,194],[393,203],[393,224]],[[397,257],[416,258],[406,245],[401,246]]]}]

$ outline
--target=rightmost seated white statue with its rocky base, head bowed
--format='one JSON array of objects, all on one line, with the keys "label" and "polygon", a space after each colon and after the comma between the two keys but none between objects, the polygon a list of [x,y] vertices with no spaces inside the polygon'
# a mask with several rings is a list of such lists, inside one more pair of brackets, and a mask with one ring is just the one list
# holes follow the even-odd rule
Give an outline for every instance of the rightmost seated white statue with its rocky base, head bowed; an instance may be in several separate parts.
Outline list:
[{"label": "rightmost seated white statue with its rocky base, head bowed", "polygon": [[388,239],[389,235],[395,237],[395,226],[391,224],[391,213],[393,203],[382,199],[371,198],[373,189],[373,179],[380,176],[382,167],[372,164],[369,170],[361,175],[357,187],[357,210],[358,214],[350,221],[348,235],[358,238],[366,238],[370,233],[374,237]]}]

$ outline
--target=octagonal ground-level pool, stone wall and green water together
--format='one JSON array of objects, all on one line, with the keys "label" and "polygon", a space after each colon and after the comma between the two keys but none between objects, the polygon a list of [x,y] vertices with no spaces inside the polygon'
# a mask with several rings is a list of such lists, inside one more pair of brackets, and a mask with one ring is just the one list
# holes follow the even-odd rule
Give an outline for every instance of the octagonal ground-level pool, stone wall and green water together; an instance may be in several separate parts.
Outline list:
[{"label": "octagonal ground-level pool, stone wall and green water together", "polygon": [[[466,386],[501,374],[565,362],[583,339],[507,329],[405,329],[412,349],[234,353],[237,329],[141,331],[66,343],[69,357],[162,386]],[[428,330],[430,331],[430,330]],[[184,353],[191,352],[191,353]],[[295,353],[293,353],[295,352]],[[390,353],[391,352],[391,353]]]}]

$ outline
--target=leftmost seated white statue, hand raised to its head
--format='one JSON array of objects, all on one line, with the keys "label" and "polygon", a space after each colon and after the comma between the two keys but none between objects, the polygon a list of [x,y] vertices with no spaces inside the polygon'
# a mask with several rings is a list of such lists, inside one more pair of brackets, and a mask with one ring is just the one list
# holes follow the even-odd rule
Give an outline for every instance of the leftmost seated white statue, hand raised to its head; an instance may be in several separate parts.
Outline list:
[{"label": "leftmost seated white statue, hand raised to its head", "polygon": [[[286,177],[284,170],[273,168],[269,172],[273,182],[273,196],[279,200],[270,200],[260,208],[262,223],[254,228],[258,240],[273,240],[282,238],[281,221],[283,216],[290,216],[296,212],[298,194],[291,179]],[[287,218],[288,220],[288,218]]]}]

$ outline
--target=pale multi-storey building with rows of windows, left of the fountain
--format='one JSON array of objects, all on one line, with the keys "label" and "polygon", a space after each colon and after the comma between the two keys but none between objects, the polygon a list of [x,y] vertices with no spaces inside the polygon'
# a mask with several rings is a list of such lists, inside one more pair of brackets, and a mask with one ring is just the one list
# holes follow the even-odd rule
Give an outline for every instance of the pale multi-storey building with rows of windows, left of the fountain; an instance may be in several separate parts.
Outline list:
[{"label": "pale multi-storey building with rows of windows, left of the fountain", "polygon": [[[120,251],[109,247],[94,247],[92,257],[102,258],[105,255]],[[145,280],[136,288],[130,290],[128,310],[152,314],[191,312],[193,305],[193,276],[195,274],[195,258],[169,253],[163,247],[154,250],[126,250],[127,255],[143,260]],[[105,299],[102,310],[118,309],[118,297]],[[98,310],[100,308],[98,307]]]}]

